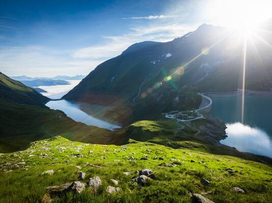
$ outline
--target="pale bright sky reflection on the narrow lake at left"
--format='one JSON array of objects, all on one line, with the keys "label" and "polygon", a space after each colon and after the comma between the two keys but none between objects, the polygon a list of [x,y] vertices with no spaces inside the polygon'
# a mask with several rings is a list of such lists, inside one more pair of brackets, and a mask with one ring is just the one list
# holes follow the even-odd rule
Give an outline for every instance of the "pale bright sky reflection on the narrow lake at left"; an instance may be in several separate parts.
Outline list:
[{"label": "pale bright sky reflection on the narrow lake at left", "polygon": [[[98,126],[101,128],[106,128],[109,130],[113,130],[114,128],[119,128],[120,126],[113,123],[107,122],[105,120],[101,120],[95,118],[86,112],[80,109],[81,103],[72,103],[67,100],[56,100],[49,101],[46,106],[53,110],[61,110],[67,114],[68,117],[72,118],[77,122],[85,123],[86,125]],[[89,105],[89,108],[92,108],[92,105]],[[103,111],[101,111],[102,114]]]}]

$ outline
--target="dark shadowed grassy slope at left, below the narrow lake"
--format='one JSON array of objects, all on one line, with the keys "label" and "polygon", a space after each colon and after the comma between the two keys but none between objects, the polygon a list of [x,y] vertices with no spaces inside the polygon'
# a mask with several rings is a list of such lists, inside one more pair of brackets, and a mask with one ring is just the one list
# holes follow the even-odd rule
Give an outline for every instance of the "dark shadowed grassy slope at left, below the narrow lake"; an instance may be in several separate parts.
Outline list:
[{"label": "dark shadowed grassy slope at left, below the narrow lake", "polygon": [[[117,143],[112,132],[75,122],[61,111],[19,105],[0,98],[0,152],[25,149],[29,143],[62,134],[72,141]],[[121,142],[121,141],[120,141]]]}]

